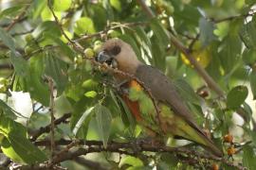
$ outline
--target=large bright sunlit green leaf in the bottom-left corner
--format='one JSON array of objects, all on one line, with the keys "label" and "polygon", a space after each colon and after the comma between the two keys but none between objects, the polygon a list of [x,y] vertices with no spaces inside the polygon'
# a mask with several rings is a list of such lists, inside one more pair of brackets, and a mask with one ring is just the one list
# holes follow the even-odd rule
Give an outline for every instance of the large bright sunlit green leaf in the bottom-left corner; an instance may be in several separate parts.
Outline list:
[{"label": "large bright sunlit green leaf in the bottom-left corner", "polygon": [[1,149],[10,159],[28,164],[46,161],[46,155],[27,140],[27,130],[21,124],[2,116],[0,133],[8,140],[2,144]]}]

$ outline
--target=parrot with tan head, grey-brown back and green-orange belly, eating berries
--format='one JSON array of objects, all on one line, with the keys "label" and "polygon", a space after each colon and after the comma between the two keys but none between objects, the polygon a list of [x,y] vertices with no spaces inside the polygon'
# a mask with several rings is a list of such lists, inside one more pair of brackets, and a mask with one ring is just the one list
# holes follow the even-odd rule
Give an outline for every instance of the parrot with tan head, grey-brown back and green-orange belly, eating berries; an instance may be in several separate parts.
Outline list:
[{"label": "parrot with tan head, grey-brown back and green-orange belly, eating berries", "polygon": [[122,100],[137,124],[149,134],[183,138],[202,145],[215,156],[223,156],[222,151],[195,123],[191,110],[176,91],[173,81],[157,68],[137,59],[130,44],[119,38],[109,39],[103,42],[96,60],[130,75],[113,72],[119,89],[123,89]]}]

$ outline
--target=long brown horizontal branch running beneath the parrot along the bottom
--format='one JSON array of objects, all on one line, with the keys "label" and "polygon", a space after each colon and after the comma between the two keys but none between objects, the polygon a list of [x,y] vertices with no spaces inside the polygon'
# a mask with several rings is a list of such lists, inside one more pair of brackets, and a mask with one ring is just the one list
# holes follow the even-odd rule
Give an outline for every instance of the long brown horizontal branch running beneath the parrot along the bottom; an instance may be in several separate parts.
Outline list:
[{"label": "long brown horizontal branch running beneath the parrot along the bottom", "polygon": [[[64,140],[64,139],[55,142],[55,144],[59,144],[59,145],[66,145],[70,143],[71,141]],[[41,145],[41,146],[49,146],[50,141],[48,140],[40,141],[40,142],[36,142],[35,144]],[[62,161],[73,160],[79,156],[86,155],[88,153],[102,152],[102,151],[117,152],[120,154],[132,155],[132,156],[137,156],[137,153],[149,151],[149,152],[155,152],[155,153],[170,153],[175,156],[177,156],[176,154],[178,154],[186,158],[192,157],[192,158],[196,158],[196,159],[193,159],[193,161],[197,161],[197,163],[205,159],[209,161],[223,162],[224,164],[227,164],[228,166],[237,168],[239,170],[246,169],[245,167],[234,164],[233,162],[228,161],[225,158],[218,158],[208,153],[201,153],[201,152],[192,150],[191,148],[185,148],[185,147],[169,147],[166,145],[153,145],[153,144],[149,144],[148,142],[140,142],[139,145],[135,145],[135,143],[133,142],[130,142],[130,143],[129,142],[127,143],[110,142],[107,144],[106,147],[103,147],[103,144],[100,141],[83,141],[83,140],[79,141],[78,144],[81,144],[83,148],[78,148],[76,151],[73,151],[73,152],[67,152],[65,154],[60,155],[60,157],[58,158],[55,157],[53,162],[59,163]]]}]

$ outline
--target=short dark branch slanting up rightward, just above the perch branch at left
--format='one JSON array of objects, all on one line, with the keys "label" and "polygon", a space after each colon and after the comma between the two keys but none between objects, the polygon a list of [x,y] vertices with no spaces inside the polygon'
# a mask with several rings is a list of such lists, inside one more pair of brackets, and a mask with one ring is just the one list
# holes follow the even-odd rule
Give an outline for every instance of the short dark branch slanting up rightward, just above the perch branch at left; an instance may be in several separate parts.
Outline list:
[{"label": "short dark branch slanting up rightward, just above the perch branch at left", "polygon": [[[71,116],[71,113],[65,113],[62,117],[60,117],[54,121],[54,125],[57,126],[61,123],[64,123],[66,121],[66,119],[68,119],[70,116]],[[41,136],[43,133],[47,133],[49,131],[50,131],[50,124],[47,125],[46,127],[41,127],[37,131],[33,132],[33,134],[31,135],[30,141],[31,142],[36,141],[39,136]]]}]

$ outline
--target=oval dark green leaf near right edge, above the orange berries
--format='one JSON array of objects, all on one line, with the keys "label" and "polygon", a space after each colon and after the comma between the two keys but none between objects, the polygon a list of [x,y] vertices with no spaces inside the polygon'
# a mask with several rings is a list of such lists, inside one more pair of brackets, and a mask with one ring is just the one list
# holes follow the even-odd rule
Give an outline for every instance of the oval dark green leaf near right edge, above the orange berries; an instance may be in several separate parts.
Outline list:
[{"label": "oval dark green leaf near right edge, above the orange berries", "polygon": [[246,86],[236,86],[231,89],[227,96],[227,107],[229,109],[239,108],[246,100],[248,90]]}]

